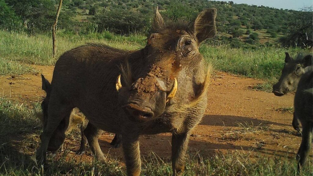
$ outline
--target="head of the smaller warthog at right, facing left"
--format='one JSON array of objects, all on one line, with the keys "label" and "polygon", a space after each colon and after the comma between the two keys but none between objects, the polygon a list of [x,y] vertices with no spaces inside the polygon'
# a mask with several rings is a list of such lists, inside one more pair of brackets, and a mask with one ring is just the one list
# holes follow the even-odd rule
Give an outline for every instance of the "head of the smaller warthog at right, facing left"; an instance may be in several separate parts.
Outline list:
[{"label": "head of the smaller warthog at right, facing left", "polygon": [[305,73],[305,69],[312,65],[312,55],[298,57],[296,60],[289,53],[285,53],[285,55],[285,66],[280,79],[273,85],[273,93],[276,96],[283,96],[290,91],[294,91],[301,76]]}]

